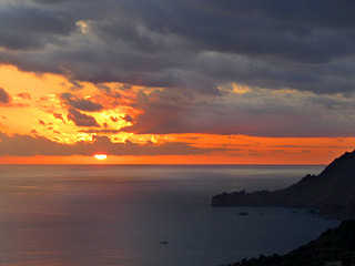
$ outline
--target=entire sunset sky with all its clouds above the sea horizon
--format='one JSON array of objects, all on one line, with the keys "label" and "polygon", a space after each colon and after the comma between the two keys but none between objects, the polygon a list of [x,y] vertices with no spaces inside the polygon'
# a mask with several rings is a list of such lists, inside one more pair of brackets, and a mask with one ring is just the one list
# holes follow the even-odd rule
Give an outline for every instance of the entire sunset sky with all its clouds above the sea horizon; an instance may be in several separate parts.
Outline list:
[{"label": "entire sunset sky with all its clouds above the sea horizon", "polygon": [[355,147],[354,12],[1,0],[0,163],[327,164]]}]

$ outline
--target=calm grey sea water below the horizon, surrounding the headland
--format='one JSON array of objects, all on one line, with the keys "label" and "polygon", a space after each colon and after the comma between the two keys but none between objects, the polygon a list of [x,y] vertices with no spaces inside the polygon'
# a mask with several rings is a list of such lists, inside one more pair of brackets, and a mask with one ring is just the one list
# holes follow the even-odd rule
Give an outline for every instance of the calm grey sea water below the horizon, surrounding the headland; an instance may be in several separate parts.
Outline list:
[{"label": "calm grey sea water below the horizon, surrounding the headland", "polygon": [[339,222],[214,208],[211,197],[282,188],[322,168],[0,165],[0,265],[213,266],[286,253]]}]

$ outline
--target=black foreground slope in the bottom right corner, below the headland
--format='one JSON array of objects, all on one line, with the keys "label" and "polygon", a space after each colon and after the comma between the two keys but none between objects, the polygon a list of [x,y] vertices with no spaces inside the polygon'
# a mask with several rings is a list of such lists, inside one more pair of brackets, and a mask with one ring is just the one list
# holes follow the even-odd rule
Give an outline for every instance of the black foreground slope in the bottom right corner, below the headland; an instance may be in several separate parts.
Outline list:
[{"label": "black foreground slope in the bottom right corner, below the headland", "polygon": [[243,259],[231,266],[323,266],[325,262],[342,262],[353,265],[355,259],[355,221],[344,221],[335,229],[324,232],[317,239],[290,252],[286,255],[272,255]]}]

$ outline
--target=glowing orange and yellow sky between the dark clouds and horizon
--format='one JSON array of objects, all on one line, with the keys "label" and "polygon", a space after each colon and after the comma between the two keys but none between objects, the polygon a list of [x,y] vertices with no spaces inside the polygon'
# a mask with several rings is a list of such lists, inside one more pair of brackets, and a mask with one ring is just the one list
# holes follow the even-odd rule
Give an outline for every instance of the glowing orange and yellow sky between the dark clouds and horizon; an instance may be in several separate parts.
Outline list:
[{"label": "glowing orange and yellow sky between the dark clouds and horizon", "polygon": [[[98,161],[93,156],[2,156],[1,164],[327,164],[335,156],[351,151],[355,137],[257,137],[246,135],[217,134],[133,134],[119,132],[131,122],[123,117],[134,117],[142,110],[130,105],[142,88],[120,91],[120,103],[101,93],[91,83],[82,82],[80,90],[64,76],[54,74],[36,75],[17,70],[11,65],[0,66],[0,88],[12,98],[8,105],[0,105],[0,132],[8,135],[21,134],[33,139],[44,136],[54,143],[74,144],[92,142],[94,135],[105,135],[113,143],[145,145],[153,143],[187,143],[199,149],[216,150],[209,154],[195,155],[121,155]],[[105,84],[112,91],[118,83]],[[146,89],[149,90],[149,89]],[[247,90],[247,89],[244,89]],[[64,92],[75,93],[78,99],[90,99],[105,106],[100,112],[87,113],[93,116],[102,133],[85,132],[87,129],[68,120],[68,106],[60,99]],[[28,93],[30,98],[19,96]],[[242,93],[239,91],[239,93]],[[84,112],[83,112],[84,113]],[[61,114],[61,119],[53,114]],[[115,121],[115,122],[114,122]],[[106,129],[106,131],[104,131]],[[98,151],[102,152],[102,151]],[[104,151],[103,151],[104,152]]]}]

